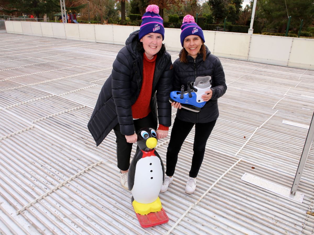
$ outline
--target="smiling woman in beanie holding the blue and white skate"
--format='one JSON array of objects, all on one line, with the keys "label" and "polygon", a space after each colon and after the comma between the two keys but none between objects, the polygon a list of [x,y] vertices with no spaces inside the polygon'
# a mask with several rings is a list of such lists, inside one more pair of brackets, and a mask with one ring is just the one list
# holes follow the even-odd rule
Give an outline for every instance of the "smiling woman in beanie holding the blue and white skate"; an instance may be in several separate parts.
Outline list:
[{"label": "smiling woman in beanie holding the blue and white skate", "polygon": [[199,112],[194,112],[196,110],[193,111],[191,106],[186,107],[184,103],[171,103],[171,106],[177,108],[177,113],[167,149],[165,181],[160,191],[167,191],[171,184],[178,153],[195,125],[192,165],[185,187],[185,192],[191,194],[196,189],[196,177],[203,162],[207,140],[219,116],[217,99],[225,94],[227,86],[220,60],[204,45],[203,31],[195,23],[193,16],[186,15],[183,18],[180,39],[183,49],[179,58],[173,63],[173,90],[180,91],[182,85],[184,90],[191,89],[188,87],[191,82],[193,84],[197,77],[206,76],[211,77],[211,87],[201,96],[202,101],[206,103]]}]

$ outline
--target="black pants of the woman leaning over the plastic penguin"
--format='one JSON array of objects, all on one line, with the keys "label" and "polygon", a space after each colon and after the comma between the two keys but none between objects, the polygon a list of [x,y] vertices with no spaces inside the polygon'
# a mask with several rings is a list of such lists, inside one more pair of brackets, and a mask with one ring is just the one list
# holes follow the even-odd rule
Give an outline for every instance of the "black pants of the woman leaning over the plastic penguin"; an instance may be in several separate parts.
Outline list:
[{"label": "black pants of the woman leaning over the plastic penguin", "polygon": [[[150,112],[145,118],[136,119],[133,121],[135,132],[141,128],[151,127],[156,130],[157,124],[154,122],[153,114]],[[130,158],[133,143],[127,143],[125,135],[120,132],[120,124],[117,124],[113,128],[116,134],[116,143],[117,143],[117,159],[118,159],[118,168],[120,170],[128,170],[130,166]]]}]

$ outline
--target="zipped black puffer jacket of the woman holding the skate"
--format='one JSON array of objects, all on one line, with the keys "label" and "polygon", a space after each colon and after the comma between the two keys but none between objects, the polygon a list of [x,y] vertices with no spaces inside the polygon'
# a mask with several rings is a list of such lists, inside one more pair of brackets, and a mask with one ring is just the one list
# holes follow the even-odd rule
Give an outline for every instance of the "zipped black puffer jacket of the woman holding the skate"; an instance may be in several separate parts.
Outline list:
[{"label": "zipped black puffer jacket of the woman holding the skate", "polygon": [[227,90],[225,72],[222,68],[220,60],[212,55],[206,47],[206,60],[203,61],[203,56],[198,54],[195,61],[191,56],[187,56],[188,63],[180,62],[177,59],[173,63],[174,81],[173,90],[180,91],[181,85],[184,85],[187,90],[187,82],[194,82],[198,76],[211,76],[213,91],[212,98],[206,102],[200,112],[192,112],[181,108],[177,110],[176,116],[185,122],[191,123],[208,123],[214,121],[219,116],[217,99],[225,94]]}]

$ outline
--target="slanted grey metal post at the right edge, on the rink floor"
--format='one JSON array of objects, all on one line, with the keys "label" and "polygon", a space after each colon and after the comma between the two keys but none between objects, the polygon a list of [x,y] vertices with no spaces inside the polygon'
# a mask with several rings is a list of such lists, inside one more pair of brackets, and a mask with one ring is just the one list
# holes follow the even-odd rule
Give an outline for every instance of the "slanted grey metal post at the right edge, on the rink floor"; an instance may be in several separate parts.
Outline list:
[{"label": "slanted grey metal post at the right edge, on the rink floor", "polygon": [[304,169],[304,166],[305,166],[305,162],[306,162],[306,159],[307,159],[307,157],[309,155],[309,152],[310,152],[313,140],[314,140],[314,113],[313,113],[313,116],[312,116],[312,121],[311,121],[311,124],[310,124],[309,132],[307,133],[307,136],[306,136],[306,140],[305,140],[303,152],[302,152],[302,155],[301,155],[301,158],[300,158],[299,166],[298,166],[298,169],[297,169],[297,171],[295,173],[295,179],[294,179],[293,185],[291,187],[290,194],[292,194],[292,195],[295,195],[295,192],[296,192],[296,190],[297,190],[297,188],[299,186],[300,179],[301,179],[301,176],[302,176],[302,172],[303,172],[303,169]]}]

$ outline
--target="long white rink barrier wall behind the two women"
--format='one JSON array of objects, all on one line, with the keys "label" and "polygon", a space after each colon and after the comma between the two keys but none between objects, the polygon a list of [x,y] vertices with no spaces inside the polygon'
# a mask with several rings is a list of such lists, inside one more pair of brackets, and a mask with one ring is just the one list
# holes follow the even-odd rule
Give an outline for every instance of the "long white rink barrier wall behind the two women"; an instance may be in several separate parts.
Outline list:
[{"label": "long white rink barrier wall behind the two women", "polygon": [[[7,33],[125,45],[138,26],[5,21]],[[314,70],[314,40],[203,30],[216,56]],[[181,29],[165,29],[167,50],[180,51]]]}]

